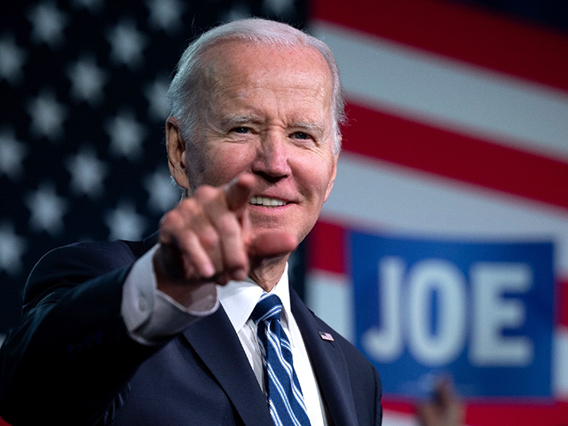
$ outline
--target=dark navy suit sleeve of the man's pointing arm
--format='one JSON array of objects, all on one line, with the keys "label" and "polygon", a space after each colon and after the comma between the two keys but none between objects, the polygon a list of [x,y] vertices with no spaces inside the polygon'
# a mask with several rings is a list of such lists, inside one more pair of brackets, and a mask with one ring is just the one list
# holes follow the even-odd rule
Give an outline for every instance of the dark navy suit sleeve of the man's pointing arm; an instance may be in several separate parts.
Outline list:
[{"label": "dark navy suit sleeve of the man's pointing arm", "polygon": [[136,260],[122,242],[43,256],[24,294],[21,326],[0,352],[0,415],[13,425],[97,424],[128,398],[138,366],[161,346],[136,343],[121,316]]}]

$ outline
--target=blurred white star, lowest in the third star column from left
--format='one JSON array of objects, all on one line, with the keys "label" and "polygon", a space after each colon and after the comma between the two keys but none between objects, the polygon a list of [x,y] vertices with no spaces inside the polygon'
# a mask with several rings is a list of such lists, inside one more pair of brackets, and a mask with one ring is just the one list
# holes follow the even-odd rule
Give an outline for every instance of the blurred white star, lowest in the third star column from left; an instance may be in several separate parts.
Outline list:
[{"label": "blurred white star, lowest in the third star column from left", "polygon": [[103,180],[108,174],[108,166],[99,161],[92,146],[83,146],[79,153],[67,159],[67,170],[71,175],[71,190],[97,198],[103,192]]}]

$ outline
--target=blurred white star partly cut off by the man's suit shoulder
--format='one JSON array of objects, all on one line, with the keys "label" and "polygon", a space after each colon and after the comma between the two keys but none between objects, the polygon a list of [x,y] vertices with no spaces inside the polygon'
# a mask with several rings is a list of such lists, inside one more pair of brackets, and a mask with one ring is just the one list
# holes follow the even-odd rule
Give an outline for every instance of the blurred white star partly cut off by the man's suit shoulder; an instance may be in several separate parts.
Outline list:
[{"label": "blurred white star partly cut off by the man's suit shoulder", "polygon": [[146,229],[146,219],[138,215],[131,201],[120,201],[116,209],[106,210],[105,223],[110,240],[138,241]]}]

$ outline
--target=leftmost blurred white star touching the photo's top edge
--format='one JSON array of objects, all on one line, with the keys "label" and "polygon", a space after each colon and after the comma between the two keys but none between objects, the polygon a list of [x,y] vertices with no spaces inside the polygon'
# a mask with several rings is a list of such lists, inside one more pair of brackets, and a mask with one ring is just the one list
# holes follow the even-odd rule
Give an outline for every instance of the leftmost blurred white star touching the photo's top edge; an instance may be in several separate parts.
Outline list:
[{"label": "leftmost blurred white star touching the photo's top edge", "polygon": [[54,2],[35,4],[28,11],[32,24],[32,40],[46,43],[55,49],[64,42],[63,29],[67,26],[67,14],[59,11]]}]

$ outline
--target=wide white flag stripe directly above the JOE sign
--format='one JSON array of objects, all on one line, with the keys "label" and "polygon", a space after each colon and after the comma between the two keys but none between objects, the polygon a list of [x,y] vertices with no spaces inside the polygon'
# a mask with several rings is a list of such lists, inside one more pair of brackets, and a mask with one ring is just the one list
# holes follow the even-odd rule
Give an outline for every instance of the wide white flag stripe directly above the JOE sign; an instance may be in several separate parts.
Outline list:
[{"label": "wide white flag stripe directly above the JOE sign", "polygon": [[321,218],[432,238],[553,241],[555,265],[568,277],[564,209],[379,165],[359,155],[340,155],[334,190]]}]

